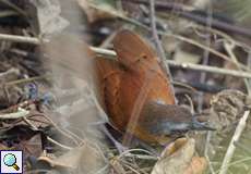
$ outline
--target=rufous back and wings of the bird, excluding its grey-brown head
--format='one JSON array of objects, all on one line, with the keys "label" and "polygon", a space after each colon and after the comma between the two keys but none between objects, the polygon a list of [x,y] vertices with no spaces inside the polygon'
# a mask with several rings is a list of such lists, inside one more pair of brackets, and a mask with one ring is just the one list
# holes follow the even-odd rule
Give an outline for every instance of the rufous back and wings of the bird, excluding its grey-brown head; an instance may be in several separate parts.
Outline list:
[{"label": "rufous back and wings of the bird, excluding its grey-brown head", "polygon": [[[147,92],[145,98],[139,100],[143,105],[148,101],[175,104],[175,97],[155,52],[143,39],[132,32],[122,30],[115,37],[113,48],[118,61],[98,60],[100,86],[111,123],[125,130],[142,90]],[[133,116],[139,116],[136,121],[141,120],[141,114]],[[148,134],[144,127],[138,126],[134,132],[143,140]]]}]

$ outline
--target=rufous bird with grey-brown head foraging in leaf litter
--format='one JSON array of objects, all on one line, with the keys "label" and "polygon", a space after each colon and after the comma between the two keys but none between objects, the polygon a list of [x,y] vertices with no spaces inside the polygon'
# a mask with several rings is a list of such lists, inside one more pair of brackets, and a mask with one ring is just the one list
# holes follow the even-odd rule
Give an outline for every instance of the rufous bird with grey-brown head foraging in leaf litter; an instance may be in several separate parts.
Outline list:
[{"label": "rufous bird with grey-brown head foraging in leaf litter", "polygon": [[117,129],[131,128],[130,134],[150,144],[164,144],[166,137],[188,130],[213,129],[189,109],[175,104],[171,84],[156,53],[140,36],[121,30],[113,48],[117,61],[98,59],[97,70],[103,104]]}]

